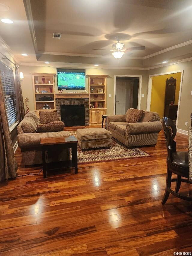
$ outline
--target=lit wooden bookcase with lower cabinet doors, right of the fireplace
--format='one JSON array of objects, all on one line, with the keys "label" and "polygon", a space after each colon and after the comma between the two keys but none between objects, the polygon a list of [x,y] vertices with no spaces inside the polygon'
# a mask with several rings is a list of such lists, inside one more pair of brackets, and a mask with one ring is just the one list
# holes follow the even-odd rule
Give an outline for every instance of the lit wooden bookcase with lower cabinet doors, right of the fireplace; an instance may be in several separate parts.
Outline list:
[{"label": "lit wooden bookcase with lower cabinet doors, right of the fireplace", "polygon": [[89,123],[101,124],[106,114],[107,75],[88,75]]}]

